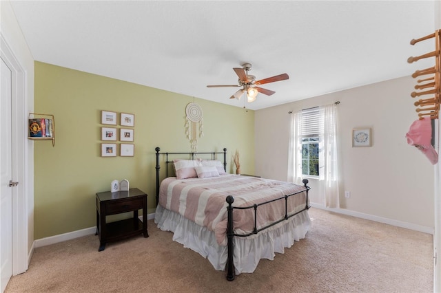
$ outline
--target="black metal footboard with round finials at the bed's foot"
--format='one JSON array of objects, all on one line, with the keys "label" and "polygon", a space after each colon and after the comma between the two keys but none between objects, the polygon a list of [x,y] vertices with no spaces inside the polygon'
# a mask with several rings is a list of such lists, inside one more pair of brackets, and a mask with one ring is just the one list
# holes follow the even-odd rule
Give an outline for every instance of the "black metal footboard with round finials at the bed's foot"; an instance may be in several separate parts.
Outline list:
[{"label": "black metal footboard with round finials at the bed's foot", "polygon": [[[228,195],[227,196],[227,217],[228,217],[228,221],[227,221],[227,250],[228,250],[228,258],[227,258],[227,280],[228,281],[233,281],[234,277],[235,277],[235,272],[234,272],[234,260],[233,260],[233,252],[234,252],[234,243],[233,243],[233,238],[236,237],[247,237],[253,234],[257,234],[258,232],[265,230],[271,226],[274,226],[278,223],[280,223],[281,221],[286,221],[287,219],[289,219],[290,217],[294,217],[295,215],[298,215],[299,213],[302,213],[304,210],[308,210],[309,209],[309,199],[308,199],[308,191],[309,191],[309,186],[307,186],[308,184],[308,180],[304,179],[302,180],[304,186],[305,186],[305,190],[303,191],[298,191],[297,193],[293,193],[291,195],[285,195],[283,197],[279,197],[278,199],[272,199],[268,202],[263,202],[261,204],[254,204],[252,206],[245,206],[245,207],[234,207],[232,206],[232,204],[234,203],[234,197],[232,195]],[[296,195],[298,193],[302,193],[306,191],[306,204],[305,204],[305,208],[303,208],[302,210],[298,211],[297,213],[294,213],[293,215],[288,215],[288,198]],[[257,208],[258,206],[263,206],[264,204],[269,204],[270,202],[276,202],[278,200],[283,200],[285,199],[285,217],[283,217],[282,219],[279,219],[278,221],[275,221],[272,224],[269,224],[268,226],[265,226],[263,228],[258,229],[257,228]],[[240,210],[245,210],[245,209],[249,209],[249,208],[253,208],[254,209],[254,231],[245,235],[239,235],[234,233],[233,230],[233,210],[234,209],[240,209]]]}]

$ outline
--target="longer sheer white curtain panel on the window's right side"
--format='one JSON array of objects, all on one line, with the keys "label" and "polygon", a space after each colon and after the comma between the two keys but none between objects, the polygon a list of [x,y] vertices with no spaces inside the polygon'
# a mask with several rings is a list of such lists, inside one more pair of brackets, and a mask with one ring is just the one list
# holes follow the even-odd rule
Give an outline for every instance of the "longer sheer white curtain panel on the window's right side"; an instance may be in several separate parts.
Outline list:
[{"label": "longer sheer white curtain panel on the window's right side", "polygon": [[319,171],[320,182],[325,184],[325,204],[327,208],[340,208],[338,191],[338,135],[337,105],[319,108]]}]

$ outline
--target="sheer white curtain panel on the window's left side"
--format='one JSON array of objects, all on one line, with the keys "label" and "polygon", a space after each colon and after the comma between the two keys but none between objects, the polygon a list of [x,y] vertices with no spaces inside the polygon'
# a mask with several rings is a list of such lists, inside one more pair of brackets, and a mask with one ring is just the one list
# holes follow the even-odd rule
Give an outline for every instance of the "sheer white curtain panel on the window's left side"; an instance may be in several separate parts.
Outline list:
[{"label": "sheer white curtain panel on the window's left side", "polygon": [[291,113],[288,146],[288,182],[302,184],[302,141],[300,127],[302,111]]}]

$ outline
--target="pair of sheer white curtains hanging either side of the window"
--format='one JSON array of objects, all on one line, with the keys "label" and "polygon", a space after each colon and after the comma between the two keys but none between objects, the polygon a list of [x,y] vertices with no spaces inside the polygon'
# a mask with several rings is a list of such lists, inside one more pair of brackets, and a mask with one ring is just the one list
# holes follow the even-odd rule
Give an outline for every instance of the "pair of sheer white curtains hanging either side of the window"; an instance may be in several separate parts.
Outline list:
[{"label": "pair of sheer white curtains hanging either side of the window", "polygon": [[[325,193],[327,208],[340,208],[338,190],[337,106],[323,106],[320,111],[319,184]],[[288,153],[288,182],[302,184],[302,111],[291,113]]]}]

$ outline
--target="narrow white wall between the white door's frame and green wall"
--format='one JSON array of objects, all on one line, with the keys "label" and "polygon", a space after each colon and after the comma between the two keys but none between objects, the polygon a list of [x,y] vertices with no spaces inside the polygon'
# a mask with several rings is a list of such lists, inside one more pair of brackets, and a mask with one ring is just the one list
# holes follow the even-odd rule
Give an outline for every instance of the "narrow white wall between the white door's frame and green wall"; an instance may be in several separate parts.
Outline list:
[{"label": "narrow white wall between the white door's frame and green wall", "polygon": [[[10,6],[9,1],[0,1],[1,22],[0,33],[10,47],[10,50],[17,58],[19,65],[24,71],[25,89],[24,96],[17,101],[17,118],[18,123],[22,126],[21,131],[17,133],[21,138],[19,147],[24,148],[23,158],[19,159],[18,168],[21,175],[21,183],[19,188],[19,215],[14,215],[14,221],[23,221],[20,226],[24,228],[26,235],[20,235],[19,240],[25,241],[25,248],[27,248],[27,255],[23,256],[30,261],[32,252],[32,245],[34,243],[34,148],[32,141],[28,141],[28,113],[34,109],[34,58],[30,53],[29,47],[21,33],[17,19],[14,16],[14,11]],[[19,185],[20,185],[19,184]],[[23,187],[24,186],[24,187]],[[17,248],[17,247],[16,247]],[[18,274],[27,269],[27,265],[22,263],[13,263],[13,274]]]}]

